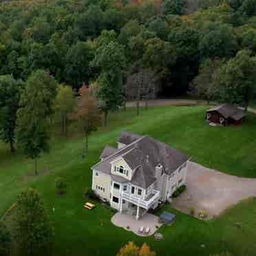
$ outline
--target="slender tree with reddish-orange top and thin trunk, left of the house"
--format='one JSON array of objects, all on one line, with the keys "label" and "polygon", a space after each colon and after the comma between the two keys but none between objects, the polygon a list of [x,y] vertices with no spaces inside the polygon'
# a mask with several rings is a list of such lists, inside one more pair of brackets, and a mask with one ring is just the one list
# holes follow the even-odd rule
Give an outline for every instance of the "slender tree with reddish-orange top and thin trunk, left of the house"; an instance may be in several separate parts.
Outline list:
[{"label": "slender tree with reddish-orange top and thin trunk, left of the house", "polygon": [[96,131],[100,124],[100,113],[98,111],[98,103],[96,98],[90,92],[90,89],[83,86],[79,90],[81,98],[78,100],[77,109],[73,114],[73,118],[85,135],[85,154],[88,153],[88,137],[93,131]]}]

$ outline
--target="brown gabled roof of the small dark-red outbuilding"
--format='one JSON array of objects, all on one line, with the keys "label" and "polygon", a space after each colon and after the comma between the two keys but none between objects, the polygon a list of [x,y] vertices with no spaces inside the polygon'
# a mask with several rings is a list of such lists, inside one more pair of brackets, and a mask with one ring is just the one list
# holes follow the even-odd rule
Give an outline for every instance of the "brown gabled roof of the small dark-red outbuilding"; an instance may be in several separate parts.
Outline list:
[{"label": "brown gabled roof of the small dark-red outbuilding", "polygon": [[223,104],[217,107],[213,107],[207,112],[217,111],[220,113],[224,118],[233,118],[234,120],[238,121],[246,116],[246,112],[242,109],[239,109],[235,105],[232,104]]}]

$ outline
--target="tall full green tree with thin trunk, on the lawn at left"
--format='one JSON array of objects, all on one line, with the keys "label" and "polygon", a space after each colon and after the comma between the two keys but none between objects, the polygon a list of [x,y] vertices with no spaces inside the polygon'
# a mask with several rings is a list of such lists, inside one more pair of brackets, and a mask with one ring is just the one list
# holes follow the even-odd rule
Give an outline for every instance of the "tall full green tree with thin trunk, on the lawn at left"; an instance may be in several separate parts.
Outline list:
[{"label": "tall full green tree with thin trunk, on the lawn at left", "polygon": [[26,82],[17,112],[17,145],[24,155],[34,160],[37,171],[37,158],[41,152],[50,149],[49,116],[53,113],[57,83],[42,70],[34,72]]}]

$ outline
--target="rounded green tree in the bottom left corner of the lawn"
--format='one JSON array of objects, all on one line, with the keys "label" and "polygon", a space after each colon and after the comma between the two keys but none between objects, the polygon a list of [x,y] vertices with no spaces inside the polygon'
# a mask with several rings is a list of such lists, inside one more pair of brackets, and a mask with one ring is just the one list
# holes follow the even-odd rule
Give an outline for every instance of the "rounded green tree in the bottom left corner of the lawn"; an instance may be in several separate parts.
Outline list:
[{"label": "rounded green tree in the bottom left corner of the lawn", "polygon": [[17,242],[25,255],[33,256],[50,253],[53,228],[36,190],[25,189],[19,195],[16,227]]}]

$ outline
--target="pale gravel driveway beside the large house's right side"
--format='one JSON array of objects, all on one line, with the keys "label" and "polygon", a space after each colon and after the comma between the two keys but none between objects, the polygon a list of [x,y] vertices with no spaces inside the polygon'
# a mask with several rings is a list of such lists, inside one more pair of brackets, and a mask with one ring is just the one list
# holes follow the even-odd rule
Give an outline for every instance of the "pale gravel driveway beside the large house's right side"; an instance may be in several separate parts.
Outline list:
[{"label": "pale gravel driveway beside the large house's right side", "polygon": [[204,210],[209,218],[219,215],[240,200],[256,195],[256,179],[239,178],[189,163],[187,190],[173,200],[173,206],[180,211],[196,213]]}]

